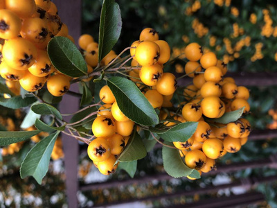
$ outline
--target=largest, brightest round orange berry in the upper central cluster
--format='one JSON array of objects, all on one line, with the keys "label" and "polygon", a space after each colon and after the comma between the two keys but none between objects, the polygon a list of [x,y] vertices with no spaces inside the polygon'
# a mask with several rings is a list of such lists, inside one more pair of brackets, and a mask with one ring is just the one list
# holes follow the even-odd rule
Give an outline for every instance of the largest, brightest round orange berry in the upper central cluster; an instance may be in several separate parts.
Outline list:
[{"label": "largest, brightest round orange berry in the upper central cluster", "polygon": [[160,48],[154,42],[143,41],[136,46],[135,57],[141,66],[151,66],[159,60]]}]

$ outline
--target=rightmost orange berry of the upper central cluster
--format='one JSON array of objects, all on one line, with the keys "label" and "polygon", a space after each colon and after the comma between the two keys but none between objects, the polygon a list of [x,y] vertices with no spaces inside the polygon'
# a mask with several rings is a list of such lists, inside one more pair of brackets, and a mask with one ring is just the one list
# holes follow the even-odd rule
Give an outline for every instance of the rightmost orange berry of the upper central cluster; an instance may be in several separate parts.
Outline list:
[{"label": "rightmost orange berry of the upper central cluster", "polygon": [[170,94],[173,94],[177,88],[177,80],[173,73],[163,73],[163,76],[158,81],[156,85],[157,91],[164,95],[168,96]]}]

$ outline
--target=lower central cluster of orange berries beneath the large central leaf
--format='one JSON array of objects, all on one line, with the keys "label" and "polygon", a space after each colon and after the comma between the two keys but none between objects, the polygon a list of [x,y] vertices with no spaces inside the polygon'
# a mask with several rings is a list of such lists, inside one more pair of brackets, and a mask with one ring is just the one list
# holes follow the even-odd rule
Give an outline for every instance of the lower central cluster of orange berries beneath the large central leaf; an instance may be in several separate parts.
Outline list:
[{"label": "lower central cluster of orange berries beneath the large central leaf", "polygon": [[107,85],[99,92],[102,105],[97,118],[92,123],[92,132],[96,137],[89,143],[87,153],[100,173],[109,175],[116,171],[116,159],[123,152],[134,122],[119,109],[116,98]]}]

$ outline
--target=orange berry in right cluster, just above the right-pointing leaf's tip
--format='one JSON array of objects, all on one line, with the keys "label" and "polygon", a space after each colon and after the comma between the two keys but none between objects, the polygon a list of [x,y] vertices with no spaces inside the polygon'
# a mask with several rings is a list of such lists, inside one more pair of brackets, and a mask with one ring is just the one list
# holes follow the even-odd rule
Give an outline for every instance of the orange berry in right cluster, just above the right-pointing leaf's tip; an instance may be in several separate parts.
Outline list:
[{"label": "orange berry in right cluster, just above the right-pointing leaf's tip", "polygon": [[198,104],[187,103],[182,109],[182,115],[186,121],[199,121],[202,116],[202,109]]}]

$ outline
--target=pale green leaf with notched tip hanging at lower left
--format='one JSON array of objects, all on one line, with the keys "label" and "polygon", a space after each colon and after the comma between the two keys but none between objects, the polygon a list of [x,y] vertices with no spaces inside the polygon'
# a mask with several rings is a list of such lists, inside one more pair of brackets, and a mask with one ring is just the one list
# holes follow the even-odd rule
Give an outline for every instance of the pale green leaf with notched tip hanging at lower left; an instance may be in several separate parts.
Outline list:
[{"label": "pale green leaf with notched tip hanging at lower left", "polygon": [[21,178],[32,175],[37,183],[42,184],[42,178],[48,171],[51,153],[59,133],[57,131],[45,137],[28,152],[20,167]]}]

